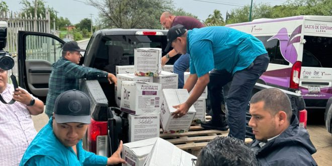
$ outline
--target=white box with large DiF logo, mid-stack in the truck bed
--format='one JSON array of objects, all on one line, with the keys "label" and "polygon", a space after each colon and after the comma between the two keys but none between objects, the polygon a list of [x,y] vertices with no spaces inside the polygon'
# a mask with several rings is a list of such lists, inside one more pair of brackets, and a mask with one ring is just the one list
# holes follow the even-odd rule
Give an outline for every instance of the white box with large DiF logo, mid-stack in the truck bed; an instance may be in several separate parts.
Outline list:
[{"label": "white box with large DiF logo, mid-stack in the truck bed", "polygon": [[160,113],[161,84],[122,81],[121,111],[133,115]]}]

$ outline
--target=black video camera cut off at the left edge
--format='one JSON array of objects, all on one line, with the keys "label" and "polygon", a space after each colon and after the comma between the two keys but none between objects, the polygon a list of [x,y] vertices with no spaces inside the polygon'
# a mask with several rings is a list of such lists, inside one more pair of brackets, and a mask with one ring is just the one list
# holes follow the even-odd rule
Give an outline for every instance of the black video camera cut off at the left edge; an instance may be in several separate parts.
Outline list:
[{"label": "black video camera cut off at the left edge", "polygon": [[10,70],[14,67],[14,59],[4,48],[7,43],[7,22],[0,21],[0,68]]}]

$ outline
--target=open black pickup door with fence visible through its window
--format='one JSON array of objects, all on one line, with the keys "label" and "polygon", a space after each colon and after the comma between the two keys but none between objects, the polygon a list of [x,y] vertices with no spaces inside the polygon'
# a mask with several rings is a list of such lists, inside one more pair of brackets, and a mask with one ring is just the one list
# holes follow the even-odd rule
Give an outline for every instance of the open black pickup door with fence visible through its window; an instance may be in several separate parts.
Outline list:
[{"label": "open black pickup door with fence visible through its window", "polygon": [[52,64],[61,57],[64,43],[51,34],[19,31],[19,86],[44,102]]}]

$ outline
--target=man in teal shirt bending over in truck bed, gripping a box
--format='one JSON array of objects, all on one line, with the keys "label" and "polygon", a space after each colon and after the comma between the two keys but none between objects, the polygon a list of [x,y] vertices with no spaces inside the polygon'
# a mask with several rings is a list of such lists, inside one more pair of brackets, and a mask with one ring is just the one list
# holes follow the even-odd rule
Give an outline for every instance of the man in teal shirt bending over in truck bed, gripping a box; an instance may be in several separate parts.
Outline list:
[{"label": "man in teal shirt bending over in truck bed, gripping a box", "polygon": [[245,108],[256,81],[269,64],[263,43],[250,34],[217,26],[187,31],[177,25],[169,30],[167,38],[165,51],[172,46],[178,53],[190,54],[190,76],[184,89],[193,92],[185,103],[174,106],[178,109],[173,113],[175,118],[185,115],[208,85],[212,120],[201,126],[224,130],[227,123],[220,115],[221,92],[232,81],[226,97],[229,136],[244,140]]}]

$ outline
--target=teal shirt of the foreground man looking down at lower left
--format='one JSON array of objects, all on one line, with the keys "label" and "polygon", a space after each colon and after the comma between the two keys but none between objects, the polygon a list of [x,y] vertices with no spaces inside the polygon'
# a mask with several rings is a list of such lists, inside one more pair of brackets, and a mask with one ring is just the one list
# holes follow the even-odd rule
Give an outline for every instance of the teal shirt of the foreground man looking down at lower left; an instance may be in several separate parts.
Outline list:
[{"label": "teal shirt of the foreground man looking down at lower left", "polygon": [[77,154],[72,147],[64,146],[54,135],[53,120],[50,118],[25,151],[20,165],[106,165],[107,157],[88,152],[82,147],[82,140],[76,144]]}]

